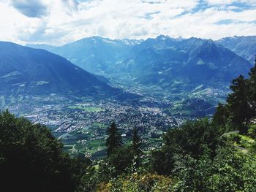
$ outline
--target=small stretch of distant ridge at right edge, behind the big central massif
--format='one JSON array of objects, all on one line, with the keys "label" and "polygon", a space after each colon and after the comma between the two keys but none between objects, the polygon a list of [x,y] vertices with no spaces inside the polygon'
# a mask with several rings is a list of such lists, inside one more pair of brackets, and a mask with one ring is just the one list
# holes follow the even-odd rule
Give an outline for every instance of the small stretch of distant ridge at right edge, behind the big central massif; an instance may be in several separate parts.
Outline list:
[{"label": "small stretch of distant ridge at right edge, behind the big central massif", "polygon": [[234,53],[254,64],[256,55],[256,36],[225,37],[223,39],[219,39],[216,43],[227,47]]}]

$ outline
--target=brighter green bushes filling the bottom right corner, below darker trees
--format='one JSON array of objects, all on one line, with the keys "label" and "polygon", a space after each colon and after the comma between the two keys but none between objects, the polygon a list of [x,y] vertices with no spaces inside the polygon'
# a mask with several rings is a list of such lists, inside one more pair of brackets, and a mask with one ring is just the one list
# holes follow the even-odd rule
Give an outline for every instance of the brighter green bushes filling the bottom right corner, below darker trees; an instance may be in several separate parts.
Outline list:
[{"label": "brighter green bushes filling the bottom right corner, below darker trees", "polygon": [[178,158],[176,191],[255,191],[256,159],[228,142],[219,147],[214,159],[208,152],[194,159]]}]

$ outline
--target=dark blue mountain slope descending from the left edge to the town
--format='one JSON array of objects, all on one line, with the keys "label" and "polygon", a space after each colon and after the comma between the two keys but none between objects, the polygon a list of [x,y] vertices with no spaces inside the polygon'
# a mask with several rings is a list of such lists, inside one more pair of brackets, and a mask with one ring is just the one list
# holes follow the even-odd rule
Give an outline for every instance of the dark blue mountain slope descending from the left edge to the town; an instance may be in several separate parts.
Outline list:
[{"label": "dark blue mountain slope descending from the left edge to the town", "polygon": [[59,55],[46,50],[0,42],[0,93],[72,93],[108,97],[123,91],[99,81]]}]

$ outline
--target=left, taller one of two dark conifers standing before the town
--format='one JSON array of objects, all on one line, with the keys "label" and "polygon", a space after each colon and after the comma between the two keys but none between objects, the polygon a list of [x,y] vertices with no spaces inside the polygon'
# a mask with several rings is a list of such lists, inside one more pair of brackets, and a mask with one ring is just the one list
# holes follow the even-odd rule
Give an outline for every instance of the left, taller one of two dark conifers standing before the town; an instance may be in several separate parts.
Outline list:
[{"label": "left, taller one of two dark conifers standing before the town", "polygon": [[118,131],[116,123],[111,123],[110,127],[107,129],[108,138],[106,141],[107,155],[110,156],[113,150],[121,147],[121,134]]}]

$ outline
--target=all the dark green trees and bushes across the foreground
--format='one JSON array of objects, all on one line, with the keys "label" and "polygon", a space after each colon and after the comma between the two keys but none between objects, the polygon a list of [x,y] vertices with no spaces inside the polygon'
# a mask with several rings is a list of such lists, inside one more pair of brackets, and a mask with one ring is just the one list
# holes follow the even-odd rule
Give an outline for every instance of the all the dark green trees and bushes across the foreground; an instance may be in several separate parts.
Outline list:
[{"label": "all the dark green trees and bushes across the foreground", "polygon": [[1,112],[1,191],[256,191],[255,83],[256,66],[212,120],[169,129],[149,154],[136,128],[124,144],[112,123],[98,161],[70,158],[48,128]]}]

